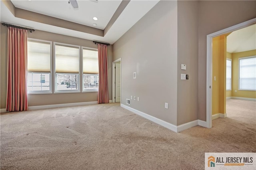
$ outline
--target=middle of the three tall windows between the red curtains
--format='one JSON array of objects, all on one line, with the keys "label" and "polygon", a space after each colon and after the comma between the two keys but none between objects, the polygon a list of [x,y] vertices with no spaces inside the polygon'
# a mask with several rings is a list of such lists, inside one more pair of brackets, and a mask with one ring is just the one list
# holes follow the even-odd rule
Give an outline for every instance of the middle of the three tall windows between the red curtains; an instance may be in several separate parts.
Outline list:
[{"label": "middle of the three tall windows between the red curtains", "polygon": [[55,92],[80,91],[80,46],[54,43]]}]

